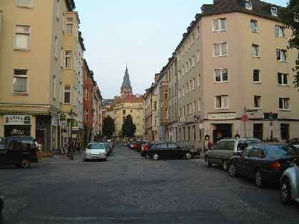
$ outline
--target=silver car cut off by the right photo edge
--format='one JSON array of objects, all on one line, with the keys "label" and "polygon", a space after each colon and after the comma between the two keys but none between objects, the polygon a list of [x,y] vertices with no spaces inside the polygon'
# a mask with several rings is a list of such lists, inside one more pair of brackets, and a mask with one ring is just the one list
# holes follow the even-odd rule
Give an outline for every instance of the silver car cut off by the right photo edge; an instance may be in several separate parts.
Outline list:
[{"label": "silver car cut off by the right photo edge", "polygon": [[280,178],[280,200],[289,205],[292,201],[299,203],[299,161],[293,161],[290,168]]}]

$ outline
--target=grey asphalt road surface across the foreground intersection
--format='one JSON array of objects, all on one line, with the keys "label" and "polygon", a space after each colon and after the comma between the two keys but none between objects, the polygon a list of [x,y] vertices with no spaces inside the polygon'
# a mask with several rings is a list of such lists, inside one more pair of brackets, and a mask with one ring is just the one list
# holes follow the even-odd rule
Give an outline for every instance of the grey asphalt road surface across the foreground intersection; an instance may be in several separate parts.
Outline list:
[{"label": "grey asphalt road surface across the foreground intersection", "polygon": [[0,168],[5,223],[299,223],[279,188],[258,189],[200,159],[151,161],[116,146],[106,162],[47,158]]}]

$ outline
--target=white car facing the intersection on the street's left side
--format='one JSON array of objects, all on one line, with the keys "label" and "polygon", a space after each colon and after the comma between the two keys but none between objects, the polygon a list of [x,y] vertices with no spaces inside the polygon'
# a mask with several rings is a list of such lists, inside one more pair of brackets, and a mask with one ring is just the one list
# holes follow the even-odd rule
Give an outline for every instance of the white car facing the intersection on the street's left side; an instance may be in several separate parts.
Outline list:
[{"label": "white car facing the intersection on the street's left side", "polygon": [[104,143],[88,144],[85,151],[84,161],[89,160],[107,160],[107,150]]}]

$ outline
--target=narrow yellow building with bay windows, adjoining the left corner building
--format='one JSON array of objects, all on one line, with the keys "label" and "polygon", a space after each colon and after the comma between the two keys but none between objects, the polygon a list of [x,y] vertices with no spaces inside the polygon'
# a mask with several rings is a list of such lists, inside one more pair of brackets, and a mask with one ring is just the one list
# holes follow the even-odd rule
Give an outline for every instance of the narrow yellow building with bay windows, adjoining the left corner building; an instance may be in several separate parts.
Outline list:
[{"label": "narrow yellow building with bay windows, adjoining the left corner building", "polygon": [[[66,114],[68,126],[64,133],[68,137],[83,141],[83,52],[85,47],[79,29],[78,12],[67,11],[64,14],[64,42],[62,47],[61,67],[63,68],[62,113]],[[67,142],[66,136],[63,143]]]}]

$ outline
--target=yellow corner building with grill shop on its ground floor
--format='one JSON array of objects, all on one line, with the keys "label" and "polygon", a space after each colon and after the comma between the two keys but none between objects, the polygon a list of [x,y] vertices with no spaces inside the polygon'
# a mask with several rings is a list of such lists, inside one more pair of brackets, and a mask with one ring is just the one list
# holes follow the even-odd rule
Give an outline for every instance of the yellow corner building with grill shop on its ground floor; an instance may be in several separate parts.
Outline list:
[{"label": "yellow corner building with grill shop on its ground floor", "polygon": [[60,145],[64,14],[73,0],[0,1],[0,136]]}]

